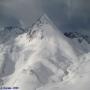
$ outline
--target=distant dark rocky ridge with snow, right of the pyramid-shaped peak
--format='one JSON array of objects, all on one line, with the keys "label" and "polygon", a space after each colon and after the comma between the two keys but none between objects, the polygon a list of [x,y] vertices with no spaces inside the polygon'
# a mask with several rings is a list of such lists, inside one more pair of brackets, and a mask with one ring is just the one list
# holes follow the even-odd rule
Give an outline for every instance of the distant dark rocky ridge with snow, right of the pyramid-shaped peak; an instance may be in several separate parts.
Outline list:
[{"label": "distant dark rocky ridge with snow, right of the pyramid-shaped peak", "polygon": [[77,47],[80,47],[84,52],[90,52],[90,36],[80,32],[65,32],[64,35],[70,38]]}]

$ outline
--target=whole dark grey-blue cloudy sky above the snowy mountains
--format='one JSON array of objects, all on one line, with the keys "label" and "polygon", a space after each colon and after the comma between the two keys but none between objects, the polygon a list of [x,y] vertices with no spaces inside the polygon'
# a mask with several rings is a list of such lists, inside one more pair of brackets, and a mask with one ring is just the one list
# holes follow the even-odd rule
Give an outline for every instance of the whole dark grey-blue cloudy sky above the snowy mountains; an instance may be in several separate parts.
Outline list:
[{"label": "whole dark grey-blue cloudy sky above the snowy mountains", "polygon": [[89,0],[0,0],[0,13],[12,13],[31,25],[45,12],[62,30],[88,30],[89,4]]}]

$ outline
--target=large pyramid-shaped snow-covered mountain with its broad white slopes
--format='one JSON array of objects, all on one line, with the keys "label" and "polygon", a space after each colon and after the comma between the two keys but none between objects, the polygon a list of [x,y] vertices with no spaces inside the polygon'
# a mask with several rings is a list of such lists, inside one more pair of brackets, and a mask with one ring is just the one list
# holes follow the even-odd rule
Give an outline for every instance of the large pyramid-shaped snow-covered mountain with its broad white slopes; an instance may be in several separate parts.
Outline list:
[{"label": "large pyramid-shaped snow-covered mountain with its broad white slopes", "polygon": [[0,85],[19,90],[89,90],[82,88],[90,82],[90,53],[83,48],[64,36],[47,15],[28,30],[5,27],[0,31]]}]

